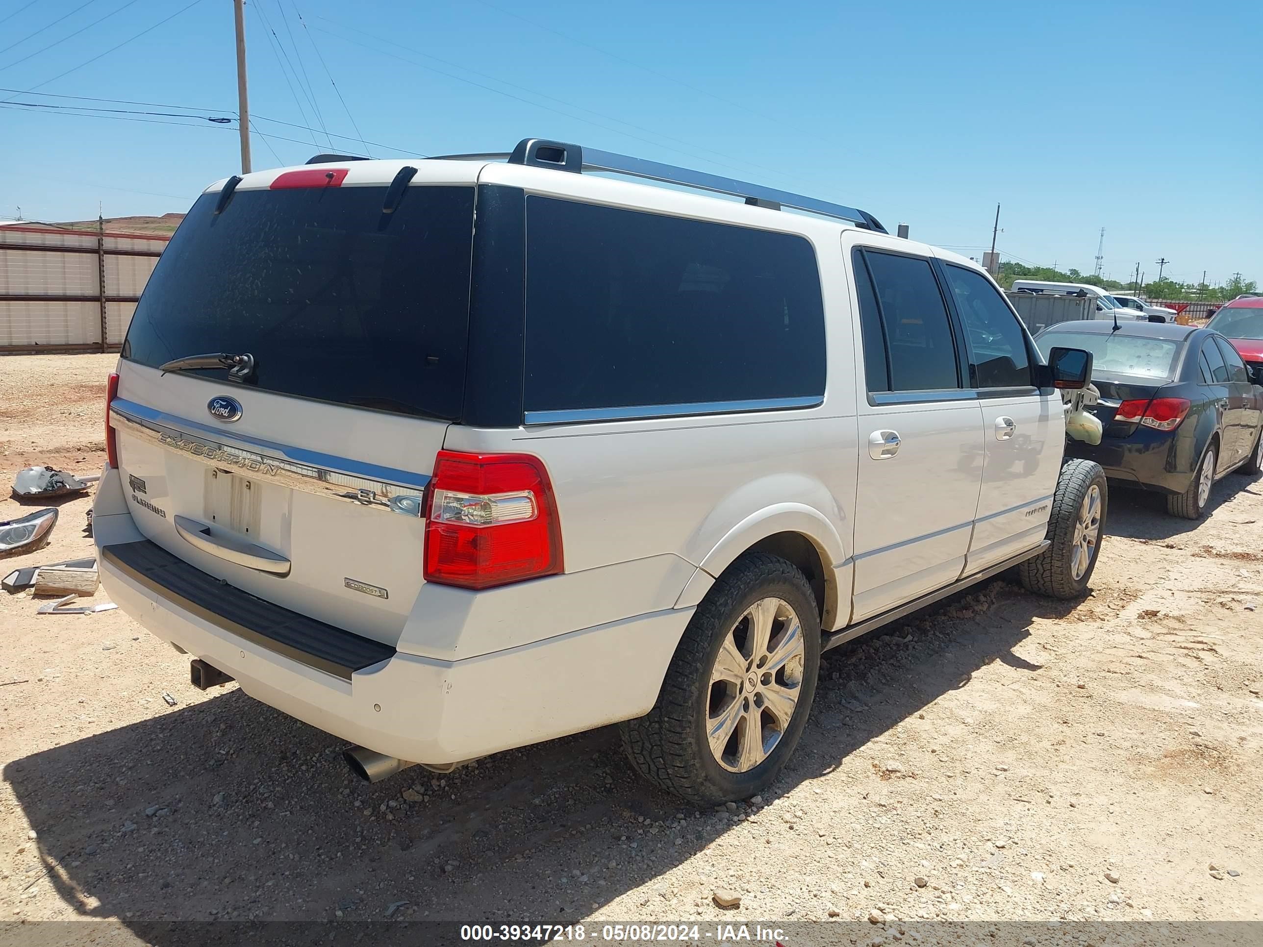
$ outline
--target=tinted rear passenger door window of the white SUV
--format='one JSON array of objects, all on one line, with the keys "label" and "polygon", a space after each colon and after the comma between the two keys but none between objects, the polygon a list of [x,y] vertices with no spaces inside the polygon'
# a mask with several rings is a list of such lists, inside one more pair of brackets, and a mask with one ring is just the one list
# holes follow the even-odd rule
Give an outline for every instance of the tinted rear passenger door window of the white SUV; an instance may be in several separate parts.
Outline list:
[{"label": "tinted rear passenger door window of the white SUV", "polygon": [[890,354],[890,390],[960,388],[956,343],[930,260],[865,250]]}]

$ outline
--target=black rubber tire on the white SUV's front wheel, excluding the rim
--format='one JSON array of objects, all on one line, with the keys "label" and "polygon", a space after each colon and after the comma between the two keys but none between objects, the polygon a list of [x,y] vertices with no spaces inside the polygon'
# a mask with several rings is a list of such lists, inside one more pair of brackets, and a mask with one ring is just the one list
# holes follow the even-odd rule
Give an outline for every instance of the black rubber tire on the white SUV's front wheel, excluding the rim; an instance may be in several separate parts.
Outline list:
[{"label": "black rubber tire on the white SUV's front wheel, excluding the rim", "polygon": [[[1100,513],[1096,519],[1096,539],[1089,552],[1087,568],[1075,577],[1075,551],[1080,511],[1092,487],[1099,490]],[[1105,471],[1092,461],[1072,460],[1061,466],[1057,490],[1052,497],[1052,515],[1048,516],[1047,539],[1051,545],[1033,559],[1018,566],[1018,578],[1028,591],[1050,599],[1081,599],[1087,593],[1087,582],[1096,571],[1100,545],[1105,538],[1105,514],[1109,509],[1109,485]]]}]

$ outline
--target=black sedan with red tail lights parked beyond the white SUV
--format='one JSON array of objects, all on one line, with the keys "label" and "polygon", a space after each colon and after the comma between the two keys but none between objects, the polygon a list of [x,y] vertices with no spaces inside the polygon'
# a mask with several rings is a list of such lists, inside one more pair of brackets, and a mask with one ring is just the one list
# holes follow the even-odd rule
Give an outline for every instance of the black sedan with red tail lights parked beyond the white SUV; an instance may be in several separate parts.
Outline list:
[{"label": "black sedan with red tail lights parked beyond the white SUV", "polygon": [[1167,510],[1199,519],[1215,481],[1263,468],[1263,383],[1218,332],[1151,322],[1062,322],[1036,337],[1092,354],[1100,444],[1072,441],[1123,486],[1166,494]]}]

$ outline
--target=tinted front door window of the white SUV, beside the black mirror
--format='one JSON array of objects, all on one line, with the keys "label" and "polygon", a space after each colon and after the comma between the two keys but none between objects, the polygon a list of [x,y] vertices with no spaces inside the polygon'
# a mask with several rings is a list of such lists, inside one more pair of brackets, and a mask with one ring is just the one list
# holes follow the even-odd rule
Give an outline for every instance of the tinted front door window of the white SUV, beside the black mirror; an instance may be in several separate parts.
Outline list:
[{"label": "tinted front door window of the white SUV, beside the black mirror", "polygon": [[979,388],[1029,388],[1031,356],[1017,316],[995,287],[973,270],[946,266]]}]

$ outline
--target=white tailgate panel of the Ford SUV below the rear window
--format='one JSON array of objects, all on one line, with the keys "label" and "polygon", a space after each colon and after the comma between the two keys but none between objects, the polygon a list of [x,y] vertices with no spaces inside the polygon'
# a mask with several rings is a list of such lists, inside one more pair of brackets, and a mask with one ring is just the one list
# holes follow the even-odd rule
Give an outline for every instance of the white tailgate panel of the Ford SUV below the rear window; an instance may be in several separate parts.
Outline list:
[{"label": "white tailgate panel of the Ford SUV below the rear window", "polygon": [[[447,424],[159,375],[124,362],[111,407],[140,532],[236,588],[394,644],[421,591],[422,497]],[[224,396],[241,405],[231,429],[207,409]]]}]

